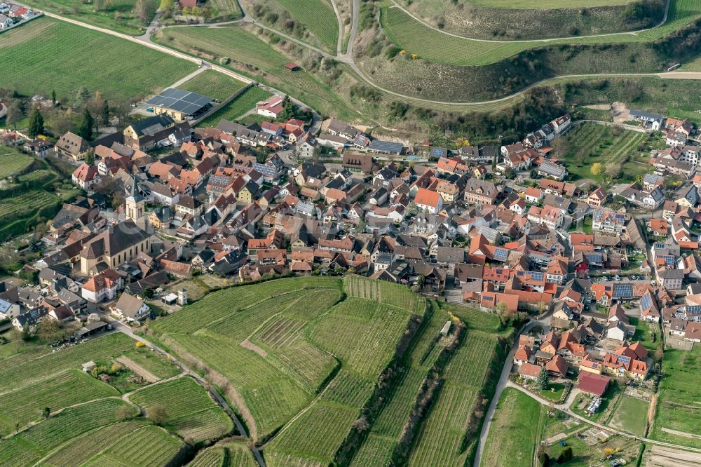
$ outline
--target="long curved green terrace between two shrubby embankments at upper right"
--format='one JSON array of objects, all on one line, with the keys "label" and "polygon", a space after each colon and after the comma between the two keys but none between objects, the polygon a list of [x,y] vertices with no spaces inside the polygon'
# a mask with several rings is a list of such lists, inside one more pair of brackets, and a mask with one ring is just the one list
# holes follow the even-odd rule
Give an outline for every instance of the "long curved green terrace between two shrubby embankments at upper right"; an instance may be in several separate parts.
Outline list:
[{"label": "long curved green terrace between two shrubby embankments at upper right", "polygon": [[[542,4],[538,5],[542,6]],[[680,29],[700,15],[701,0],[672,0],[665,25],[648,31],[552,41],[506,41],[501,43],[498,41],[475,41],[443,34],[422,25],[399,8],[383,8],[381,22],[390,41],[409,54],[417,54],[423,60],[446,65],[489,65],[524,50],[552,44],[651,42]]]}]

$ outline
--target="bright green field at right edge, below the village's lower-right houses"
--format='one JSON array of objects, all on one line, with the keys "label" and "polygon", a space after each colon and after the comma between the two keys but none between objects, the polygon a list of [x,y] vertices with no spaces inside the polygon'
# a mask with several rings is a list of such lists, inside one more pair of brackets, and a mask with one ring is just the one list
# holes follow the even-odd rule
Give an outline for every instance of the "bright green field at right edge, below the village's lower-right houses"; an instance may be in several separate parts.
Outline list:
[{"label": "bright green field at right edge, below the village's lower-right houses", "polygon": [[701,384],[696,368],[701,365],[701,347],[693,350],[665,350],[662,360],[662,379],[655,421],[650,438],[677,445],[701,447],[698,434],[701,424]]}]

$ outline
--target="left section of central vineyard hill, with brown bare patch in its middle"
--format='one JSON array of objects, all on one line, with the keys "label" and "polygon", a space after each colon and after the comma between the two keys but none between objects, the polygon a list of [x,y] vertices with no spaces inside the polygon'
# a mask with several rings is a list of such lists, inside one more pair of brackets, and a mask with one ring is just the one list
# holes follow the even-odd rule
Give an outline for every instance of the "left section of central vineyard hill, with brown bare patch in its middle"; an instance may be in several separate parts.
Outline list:
[{"label": "left section of central vineyard hill, with brown bare patch in its middle", "polygon": [[298,323],[306,327],[330,309],[338,286],[334,278],[295,278],[230,287],[151,327],[186,361],[228,380],[253,437],[264,437],[299,412],[337,365],[299,334]]}]

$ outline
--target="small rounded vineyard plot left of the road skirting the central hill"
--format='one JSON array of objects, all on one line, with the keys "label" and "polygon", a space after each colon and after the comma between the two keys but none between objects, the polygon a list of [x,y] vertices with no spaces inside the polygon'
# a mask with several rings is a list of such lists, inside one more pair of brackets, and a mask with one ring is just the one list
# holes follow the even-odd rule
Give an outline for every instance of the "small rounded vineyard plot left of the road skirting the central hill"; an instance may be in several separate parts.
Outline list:
[{"label": "small rounded vineyard plot left of the road skirting the central hill", "polygon": [[162,404],[168,414],[165,427],[195,442],[219,438],[233,430],[233,421],[226,412],[190,377],[148,386],[130,394],[129,400],[144,407],[147,414],[149,408]]}]

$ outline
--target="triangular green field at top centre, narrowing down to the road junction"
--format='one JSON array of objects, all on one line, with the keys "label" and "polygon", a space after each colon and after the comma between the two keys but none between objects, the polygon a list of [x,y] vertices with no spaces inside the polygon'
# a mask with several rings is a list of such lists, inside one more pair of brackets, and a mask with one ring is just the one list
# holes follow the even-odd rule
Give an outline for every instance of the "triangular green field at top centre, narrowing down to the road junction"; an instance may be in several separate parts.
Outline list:
[{"label": "triangular green field at top centre, narrowing down to the road junction", "polygon": [[292,19],[301,22],[306,29],[314,34],[325,48],[336,53],[336,43],[339,38],[339,22],[334,8],[328,0],[276,0],[287,10]]}]

